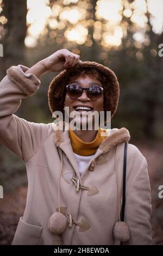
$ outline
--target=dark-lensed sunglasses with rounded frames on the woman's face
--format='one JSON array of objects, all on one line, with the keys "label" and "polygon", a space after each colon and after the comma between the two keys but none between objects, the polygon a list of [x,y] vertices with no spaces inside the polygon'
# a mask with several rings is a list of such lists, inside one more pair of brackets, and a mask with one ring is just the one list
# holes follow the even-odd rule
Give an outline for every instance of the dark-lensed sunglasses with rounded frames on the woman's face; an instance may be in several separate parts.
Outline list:
[{"label": "dark-lensed sunglasses with rounded frames on the woman's face", "polygon": [[72,99],[78,99],[85,90],[87,97],[89,97],[90,100],[98,100],[103,93],[102,87],[99,86],[90,86],[87,88],[83,88],[78,86],[78,84],[68,84],[66,86],[67,95]]}]

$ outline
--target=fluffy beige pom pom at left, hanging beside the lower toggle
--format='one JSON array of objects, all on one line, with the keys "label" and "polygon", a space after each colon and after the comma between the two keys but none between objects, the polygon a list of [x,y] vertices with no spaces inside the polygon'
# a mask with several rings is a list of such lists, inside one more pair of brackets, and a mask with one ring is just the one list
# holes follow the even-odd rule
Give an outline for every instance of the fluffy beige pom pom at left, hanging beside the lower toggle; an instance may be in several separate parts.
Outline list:
[{"label": "fluffy beige pom pom at left, hanging beside the lower toggle", "polygon": [[67,225],[67,218],[60,212],[54,212],[48,221],[48,229],[51,233],[59,235],[64,232]]}]

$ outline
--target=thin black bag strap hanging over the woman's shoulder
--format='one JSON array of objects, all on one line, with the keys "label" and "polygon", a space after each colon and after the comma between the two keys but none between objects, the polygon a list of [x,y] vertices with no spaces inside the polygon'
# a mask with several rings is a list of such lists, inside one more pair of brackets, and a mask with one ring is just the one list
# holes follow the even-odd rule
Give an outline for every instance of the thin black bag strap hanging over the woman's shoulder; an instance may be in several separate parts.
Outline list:
[{"label": "thin black bag strap hanging over the woman's shoulder", "polygon": [[[123,195],[122,195],[122,209],[121,209],[121,221],[124,221],[124,209],[126,204],[126,161],[127,161],[127,145],[124,144],[124,158],[123,158]],[[121,245],[123,243],[121,242]]]}]

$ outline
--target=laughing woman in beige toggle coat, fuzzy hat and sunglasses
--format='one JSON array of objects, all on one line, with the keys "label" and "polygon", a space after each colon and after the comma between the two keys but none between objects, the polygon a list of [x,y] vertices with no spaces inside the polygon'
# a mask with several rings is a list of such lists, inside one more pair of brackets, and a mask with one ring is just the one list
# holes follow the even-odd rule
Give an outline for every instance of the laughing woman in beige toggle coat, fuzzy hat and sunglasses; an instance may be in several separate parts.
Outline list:
[{"label": "laughing woman in beige toggle coat, fuzzy hat and sunglasses", "polygon": [[[87,112],[111,111],[112,117],[117,108],[119,85],[114,72],[95,62],[82,62],[66,49],[30,69],[18,65],[7,70],[0,86],[0,142],[26,162],[28,175],[26,209],[12,244],[114,245],[121,239],[127,245],[151,244],[147,162],[131,144],[127,149],[126,229],[116,230],[115,224],[121,223],[127,129],[97,131],[93,118],[92,130],[66,129],[66,122],[62,130],[60,122],[36,124],[14,115],[21,99],[36,92],[39,78],[48,71],[62,71],[48,90],[52,113],[64,114],[66,107],[78,113],[79,128],[89,124]],[[126,234],[117,241],[121,231]]]}]

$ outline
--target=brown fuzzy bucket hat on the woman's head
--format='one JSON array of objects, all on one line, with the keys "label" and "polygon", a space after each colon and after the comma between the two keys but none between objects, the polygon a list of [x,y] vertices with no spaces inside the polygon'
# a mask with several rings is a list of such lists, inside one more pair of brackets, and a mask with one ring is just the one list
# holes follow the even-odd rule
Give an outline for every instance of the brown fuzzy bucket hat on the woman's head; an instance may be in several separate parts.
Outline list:
[{"label": "brown fuzzy bucket hat on the woman's head", "polygon": [[116,112],[120,87],[114,72],[96,62],[82,62],[73,68],[68,68],[54,77],[48,89],[48,104],[51,112],[61,111],[64,114],[64,101],[66,96],[66,85],[71,77],[79,76],[83,71],[86,74],[91,70],[96,70],[101,77],[104,94],[104,110],[111,111],[111,118]]}]

